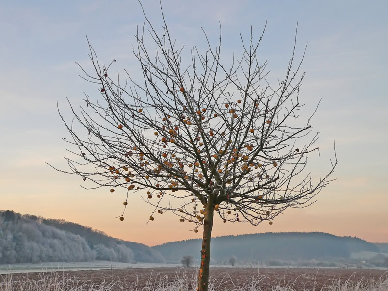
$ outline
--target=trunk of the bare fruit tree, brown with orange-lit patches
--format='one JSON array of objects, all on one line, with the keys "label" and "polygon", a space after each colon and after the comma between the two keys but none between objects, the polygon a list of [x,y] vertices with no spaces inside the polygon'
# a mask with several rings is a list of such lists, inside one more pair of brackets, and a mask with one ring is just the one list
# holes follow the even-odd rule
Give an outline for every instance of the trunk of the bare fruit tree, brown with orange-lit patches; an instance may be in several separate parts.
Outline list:
[{"label": "trunk of the bare fruit tree, brown with orange-lit patches", "polygon": [[209,196],[208,204],[205,207],[203,222],[203,238],[201,249],[201,266],[198,275],[198,291],[208,291],[209,264],[210,264],[210,241],[211,230],[213,229],[214,205],[213,198]]}]

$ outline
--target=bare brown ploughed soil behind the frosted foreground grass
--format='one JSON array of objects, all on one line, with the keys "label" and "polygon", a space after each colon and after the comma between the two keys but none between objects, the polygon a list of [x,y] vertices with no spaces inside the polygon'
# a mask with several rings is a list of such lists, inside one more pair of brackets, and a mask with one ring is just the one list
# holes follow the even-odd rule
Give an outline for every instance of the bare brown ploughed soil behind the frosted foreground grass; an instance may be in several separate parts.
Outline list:
[{"label": "bare brown ploughed soil behind the frosted foreground grass", "polygon": [[[152,285],[164,278],[164,283],[172,282],[186,274],[187,285],[193,285],[196,279],[197,269],[194,268],[139,268],[139,269],[116,269],[91,270],[91,271],[60,271],[57,276],[75,278],[79,283],[89,282],[100,285],[121,282],[115,284],[113,289],[134,290],[145,287],[147,283]],[[46,276],[54,276],[45,272]],[[375,269],[311,269],[311,268],[210,268],[210,281],[213,281],[216,289],[237,289],[246,286],[252,281],[257,282],[263,291],[274,290],[275,286],[292,286],[294,290],[325,290],[325,287],[337,285],[345,281],[350,284],[360,280],[379,280],[381,276],[386,278],[387,271]],[[167,276],[167,277],[165,277]],[[16,273],[13,280],[22,278],[36,280],[39,273]],[[168,279],[167,279],[168,278]],[[112,280],[113,279],[113,280]],[[191,281],[193,279],[193,281]],[[1,280],[1,278],[0,278]],[[214,281],[215,280],[215,281]],[[156,283],[158,284],[158,283]],[[119,286],[121,286],[119,288]],[[137,288],[136,288],[137,287]],[[187,286],[191,287],[191,286]],[[186,289],[186,288],[185,288]],[[258,289],[258,288],[257,288]],[[187,290],[187,289],[186,289]],[[193,290],[193,289],[191,289]]]}]

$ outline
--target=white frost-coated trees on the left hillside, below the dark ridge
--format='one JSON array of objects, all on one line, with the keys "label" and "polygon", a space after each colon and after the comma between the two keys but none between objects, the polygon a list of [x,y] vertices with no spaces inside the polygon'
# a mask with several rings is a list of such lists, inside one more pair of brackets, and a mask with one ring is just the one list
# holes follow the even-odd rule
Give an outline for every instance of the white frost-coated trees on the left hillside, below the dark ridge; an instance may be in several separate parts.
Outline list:
[{"label": "white frost-coated trees on the left hillside, below the dark ridge", "polygon": [[[8,212],[11,214],[4,215]],[[133,251],[121,242],[113,243],[105,237],[108,240],[105,243],[90,243],[78,234],[34,221],[13,211],[8,212],[0,211],[0,264],[134,261]],[[157,252],[150,254],[150,261],[156,258],[154,253]]]}]

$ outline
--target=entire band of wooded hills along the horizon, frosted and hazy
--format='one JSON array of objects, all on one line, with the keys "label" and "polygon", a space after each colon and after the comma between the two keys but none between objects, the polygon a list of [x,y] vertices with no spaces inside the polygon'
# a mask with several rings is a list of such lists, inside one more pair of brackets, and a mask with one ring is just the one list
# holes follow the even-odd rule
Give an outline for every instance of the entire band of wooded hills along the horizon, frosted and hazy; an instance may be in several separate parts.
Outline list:
[{"label": "entire band of wooded hills along the horizon, frosted and hazy", "polygon": [[[180,264],[199,259],[201,240],[154,247],[112,238],[65,220],[0,211],[0,264],[112,260]],[[229,235],[212,238],[210,264],[388,267],[388,243],[323,232]]]}]

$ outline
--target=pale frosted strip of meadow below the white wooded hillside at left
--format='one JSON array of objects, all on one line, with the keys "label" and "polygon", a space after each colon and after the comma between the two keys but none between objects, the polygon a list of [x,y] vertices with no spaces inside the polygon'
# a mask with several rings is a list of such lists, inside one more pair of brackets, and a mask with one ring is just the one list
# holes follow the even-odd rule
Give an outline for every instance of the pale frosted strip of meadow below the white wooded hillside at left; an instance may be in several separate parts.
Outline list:
[{"label": "pale frosted strip of meadow below the white wooded hillside at left", "polygon": [[[124,268],[162,268],[176,267],[177,264],[157,264],[157,263],[119,263],[112,262],[112,269]],[[179,266],[180,267],[180,266]],[[101,270],[110,269],[110,261],[93,262],[57,262],[57,263],[36,263],[36,264],[3,264],[0,265],[0,274],[64,271],[64,270]]]}]

